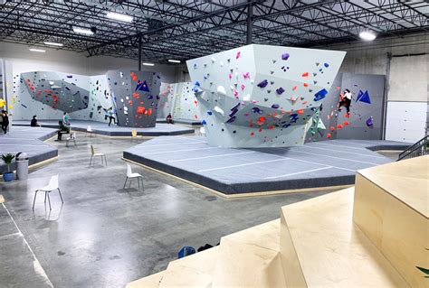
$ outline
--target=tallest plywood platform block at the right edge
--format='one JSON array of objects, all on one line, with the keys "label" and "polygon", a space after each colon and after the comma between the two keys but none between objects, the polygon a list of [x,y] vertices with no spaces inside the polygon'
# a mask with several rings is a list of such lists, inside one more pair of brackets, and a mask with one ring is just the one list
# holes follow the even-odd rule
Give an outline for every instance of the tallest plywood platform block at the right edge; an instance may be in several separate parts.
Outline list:
[{"label": "tallest plywood platform block at the right edge", "polygon": [[429,155],[358,171],[354,221],[413,287],[429,285]]}]

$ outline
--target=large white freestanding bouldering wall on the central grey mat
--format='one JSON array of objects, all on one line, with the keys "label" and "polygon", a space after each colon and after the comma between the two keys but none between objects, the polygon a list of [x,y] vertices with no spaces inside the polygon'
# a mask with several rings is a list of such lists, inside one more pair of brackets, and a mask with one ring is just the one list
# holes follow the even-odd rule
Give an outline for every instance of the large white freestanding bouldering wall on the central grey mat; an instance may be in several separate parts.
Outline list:
[{"label": "large white freestanding bouldering wall on the central grey mat", "polygon": [[187,60],[208,143],[304,143],[346,52],[248,45]]}]

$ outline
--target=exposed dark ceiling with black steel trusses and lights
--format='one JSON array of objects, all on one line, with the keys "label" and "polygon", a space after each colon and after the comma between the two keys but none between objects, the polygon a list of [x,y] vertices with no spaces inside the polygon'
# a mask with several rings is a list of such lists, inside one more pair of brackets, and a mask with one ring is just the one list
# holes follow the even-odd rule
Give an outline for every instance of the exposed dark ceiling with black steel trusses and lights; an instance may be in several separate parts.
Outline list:
[{"label": "exposed dark ceiling with black steel trusses and lights", "polygon": [[[88,56],[110,55],[167,62],[187,60],[246,44],[248,5],[253,43],[309,47],[358,40],[369,30],[378,37],[429,31],[426,1],[0,1],[0,41],[32,47],[61,42],[61,49]],[[132,23],[106,17],[129,14]],[[72,27],[96,28],[93,35]]]}]

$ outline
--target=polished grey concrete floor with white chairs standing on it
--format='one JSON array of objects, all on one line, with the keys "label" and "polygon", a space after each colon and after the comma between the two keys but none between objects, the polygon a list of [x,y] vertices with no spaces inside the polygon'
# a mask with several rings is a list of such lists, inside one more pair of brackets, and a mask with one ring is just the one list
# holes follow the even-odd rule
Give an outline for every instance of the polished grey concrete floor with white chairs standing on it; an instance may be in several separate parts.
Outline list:
[{"label": "polished grey concrete floor with white chairs standing on it", "polygon": [[[283,205],[326,193],[224,200],[138,166],[146,190],[137,182],[123,190],[120,157],[135,145],[129,140],[81,134],[77,148],[49,143],[59,149],[58,162],[30,173],[28,181],[0,182],[5,209],[22,233],[12,226],[0,235],[1,287],[123,287],[165,269],[181,246],[215,245],[224,235],[278,218]],[[88,166],[90,144],[107,154],[108,167]],[[64,205],[52,192],[50,212],[41,194],[33,211],[33,190],[55,173]]]}]

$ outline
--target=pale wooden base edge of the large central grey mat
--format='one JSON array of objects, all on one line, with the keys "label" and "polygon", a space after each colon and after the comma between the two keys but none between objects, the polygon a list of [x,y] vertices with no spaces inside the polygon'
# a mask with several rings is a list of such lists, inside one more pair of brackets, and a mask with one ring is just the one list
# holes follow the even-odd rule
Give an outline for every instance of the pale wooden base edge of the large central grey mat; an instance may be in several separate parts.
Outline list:
[{"label": "pale wooden base edge of the large central grey mat", "polygon": [[261,197],[261,196],[272,196],[272,195],[280,195],[280,194],[289,194],[289,193],[300,193],[300,192],[319,192],[322,190],[341,190],[341,189],[346,189],[349,187],[354,186],[353,184],[348,184],[348,185],[338,185],[338,186],[325,186],[325,187],[312,187],[312,188],[301,188],[301,189],[291,189],[291,190],[271,190],[271,191],[261,191],[261,192],[251,192],[251,193],[239,193],[239,194],[224,194],[218,190],[214,190],[211,188],[208,188],[204,185],[195,183],[193,181],[189,181],[186,180],[184,178],[180,178],[176,175],[167,173],[167,172],[163,172],[160,170],[157,170],[155,168],[152,168],[148,165],[142,164],[142,163],[137,163],[135,161],[126,159],[124,157],[121,157],[121,159],[123,161],[129,162],[129,163],[133,163],[136,164],[138,166],[144,167],[152,172],[157,172],[159,174],[174,178],[178,181],[183,181],[186,182],[187,184],[193,185],[195,187],[201,188],[203,190],[206,190],[208,192],[211,192],[213,194],[215,194],[216,196],[222,197],[224,199],[237,199],[237,198],[247,198],[247,197]]}]

